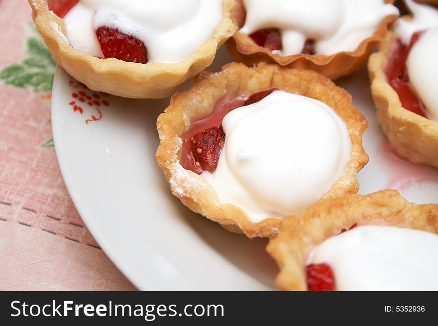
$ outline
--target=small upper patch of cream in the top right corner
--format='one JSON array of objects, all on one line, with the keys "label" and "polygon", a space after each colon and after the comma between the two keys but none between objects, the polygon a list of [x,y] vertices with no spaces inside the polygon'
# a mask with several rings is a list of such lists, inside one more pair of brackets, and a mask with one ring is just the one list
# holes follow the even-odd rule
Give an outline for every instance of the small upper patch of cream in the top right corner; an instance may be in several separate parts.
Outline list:
[{"label": "small upper patch of cream in the top right corner", "polygon": [[409,44],[415,32],[438,26],[438,9],[428,4],[404,0],[412,14],[412,19],[399,19],[395,32],[401,41]]}]

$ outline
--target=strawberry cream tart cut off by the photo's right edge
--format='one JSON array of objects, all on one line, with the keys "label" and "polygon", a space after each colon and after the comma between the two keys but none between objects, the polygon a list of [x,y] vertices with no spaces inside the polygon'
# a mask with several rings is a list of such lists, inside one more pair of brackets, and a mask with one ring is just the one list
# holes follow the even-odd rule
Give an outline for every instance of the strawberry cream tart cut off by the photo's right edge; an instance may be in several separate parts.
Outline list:
[{"label": "strawberry cream tart cut off by the photo's right edge", "polygon": [[377,117],[394,149],[413,163],[438,167],[438,8],[405,1],[399,19],[370,57]]}]

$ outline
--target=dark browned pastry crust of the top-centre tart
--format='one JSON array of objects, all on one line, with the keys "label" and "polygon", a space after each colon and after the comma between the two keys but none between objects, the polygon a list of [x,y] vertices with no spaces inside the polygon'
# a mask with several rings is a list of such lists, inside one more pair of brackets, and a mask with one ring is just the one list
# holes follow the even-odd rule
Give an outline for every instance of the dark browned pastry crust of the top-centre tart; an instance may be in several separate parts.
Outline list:
[{"label": "dark browned pastry crust of the top-centre tart", "polygon": [[[393,0],[385,0],[386,3],[393,3]],[[238,28],[241,28],[245,22],[245,9],[242,0],[236,0],[236,5],[232,10]],[[231,54],[237,61],[247,66],[254,64],[277,63],[289,68],[311,69],[315,70],[331,79],[337,79],[346,76],[360,69],[366,62],[377,42],[385,37],[388,25],[397,19],[397,16],[386,16],[376,29],[374,34],[363,40],[359,46],[352,52],[338,52],[332,55],[324,54],[295,54],[282,56],[272,53],[269,49],[258,46],[245,33],[238,30],[233,37],[227,41],[227,46]]]}]

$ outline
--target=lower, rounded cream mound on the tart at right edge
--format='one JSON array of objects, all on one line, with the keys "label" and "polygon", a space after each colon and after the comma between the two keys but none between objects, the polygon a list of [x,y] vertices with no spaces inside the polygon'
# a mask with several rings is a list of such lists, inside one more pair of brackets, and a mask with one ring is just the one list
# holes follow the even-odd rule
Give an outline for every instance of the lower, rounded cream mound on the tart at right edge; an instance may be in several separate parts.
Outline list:
[{"label": "lower, rounded cream mound on the tart at right edge", "polygon": [[409,80],[426,106],[428,118],[435,121],[438,121],[437,59],[438,27],[435,27],[427,30],[415,43],[406,61]]}]

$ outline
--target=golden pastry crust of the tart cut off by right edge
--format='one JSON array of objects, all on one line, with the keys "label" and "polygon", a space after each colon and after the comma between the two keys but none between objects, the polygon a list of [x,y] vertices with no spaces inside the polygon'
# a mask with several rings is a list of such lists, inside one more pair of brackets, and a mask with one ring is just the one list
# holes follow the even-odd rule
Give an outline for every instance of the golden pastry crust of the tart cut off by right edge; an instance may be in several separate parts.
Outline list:
[{"label": "golden pastry crust of the tart cut off by right edge", "polygon": [[397,36],[389,31],[379,51],[368,62],[371,94],[383,132],[398,154],[417,164],[438,168],[438,122],[402,107],[397,92],[389,85],[385,68]]}]

